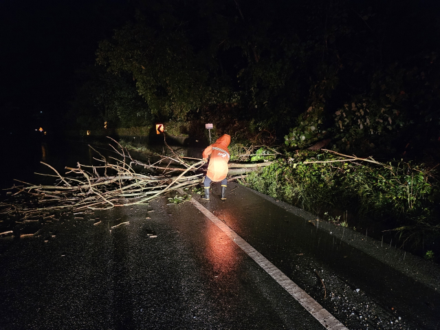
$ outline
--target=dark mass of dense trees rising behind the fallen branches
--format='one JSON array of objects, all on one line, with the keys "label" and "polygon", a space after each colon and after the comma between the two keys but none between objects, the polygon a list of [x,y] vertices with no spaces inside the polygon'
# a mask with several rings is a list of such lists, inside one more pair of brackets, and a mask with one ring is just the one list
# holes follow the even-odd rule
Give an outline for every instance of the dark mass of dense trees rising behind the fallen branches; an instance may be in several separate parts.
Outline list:
[{"label": "dark mass of dense trees rising behind the fallen branches", "polygon": [[434,1],[131,4],[96,52],[107,73],[82,89],[121,125],[228,109],[294,148],[404,152],[440,137]]}]

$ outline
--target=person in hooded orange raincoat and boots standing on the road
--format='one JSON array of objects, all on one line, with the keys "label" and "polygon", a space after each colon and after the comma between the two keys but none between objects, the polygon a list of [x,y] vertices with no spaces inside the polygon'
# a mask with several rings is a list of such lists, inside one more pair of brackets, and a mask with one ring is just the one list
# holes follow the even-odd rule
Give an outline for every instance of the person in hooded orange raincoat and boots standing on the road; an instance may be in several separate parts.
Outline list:
[{"label": "person in hooded orange raincoat and boots standing on the road", "polygon": [[228,162],[230,158],[228,146],[231,142],[231,137],[228,134],[223,134],[217,139],[214,144],[211,144],[203,150],[203,160],[208,162],[208,156],[211,155],[208,173],[206,173],[205,181],[203,181],[203,188],[205,188],[205,195],[201,197],[206,201],[209,201],[209,188],[211,182],[221,181],[221,200],[226,199],[226,187],[228,186],[228,180],[226,175],[228,175]]}]

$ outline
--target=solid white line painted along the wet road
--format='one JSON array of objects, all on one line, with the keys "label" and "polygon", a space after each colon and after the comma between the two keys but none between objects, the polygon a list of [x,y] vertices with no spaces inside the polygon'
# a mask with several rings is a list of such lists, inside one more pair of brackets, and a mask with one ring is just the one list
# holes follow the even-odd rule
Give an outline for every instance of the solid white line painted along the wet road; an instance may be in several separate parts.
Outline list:
[{"label": "solid white line painted along the wet road", "polygon": [[219,227],[232,241],[239,245],[241,250],[246,252],[256,263],[260,265],[263,270],[265,270],[274,280],[281,285],[289,294],[291,294],[309,313],[318,320],[321,325],[329,330],[349,330],[344,327],[341,322],[339,322],[333,315],[327,311],[327,309],[322,308],[314,298],[311,298],[303,289],[298,287],[290,278],[285,276],[281,270],[278,270],[270,261],[265,259],[264,256],[259,254],[257,250],[252,248],[252,246],[242,239],[234,230],[225,225],[219,218],[207,210],[195,199],[190,199],[190,202],[198,208],[203,214],[212,221],[217,227]]}]

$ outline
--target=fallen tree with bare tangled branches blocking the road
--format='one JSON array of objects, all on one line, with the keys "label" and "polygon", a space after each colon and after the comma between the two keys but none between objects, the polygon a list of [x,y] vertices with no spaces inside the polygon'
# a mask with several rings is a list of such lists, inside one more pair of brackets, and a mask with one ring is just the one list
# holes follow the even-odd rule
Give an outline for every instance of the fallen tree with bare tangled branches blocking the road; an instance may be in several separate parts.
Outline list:
[{"label": "fallen tree with bare tangled branches blocking the road", "polygon": [[[111,139],[113,140],[113,139]],[[77,167],[65,167],[67,172],[61,175],[50,166],[52,175],[36,173],[55,178],[54,185],[35,185],[19,181],[20,186],[13,186],[9,192],[10,200],[0,205],[1,214],[16,214],[30,217],[42,212],[61,210],[107,210],[114,207],[145,204],[166,192],[179,188],[197,186],[203,181],[206,166],[203,159],[159,155],[151,163],[133,159],[129,151],[113,140],[118,146],[110,146],[119,155],[104,157],[99,151],[89,146],[98,157],[99,166],[77,163]],[[168,146],[169,148],[169,146]],[[157,155],[156,155],[157,157]],[[259,170],[272,162],[260,164],[230,164],[230,175],[239,175]],[[135,166],[148,169],[151,174],[140,174]],[[203,167],[202,167],[203,166]],[[230,177],[230,181],[238,177]],[[17,180],[18,181],[18,180]]]}]

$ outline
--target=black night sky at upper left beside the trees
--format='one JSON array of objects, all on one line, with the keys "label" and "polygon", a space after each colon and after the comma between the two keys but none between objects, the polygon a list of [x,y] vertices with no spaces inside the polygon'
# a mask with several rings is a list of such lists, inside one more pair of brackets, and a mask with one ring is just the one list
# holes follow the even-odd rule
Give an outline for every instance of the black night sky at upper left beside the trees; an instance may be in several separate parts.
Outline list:
[{"label": "black night sky at upper left beside the trees", "polygon": [[94,65],[98,42],[131,17],[124,0],[0,0],[0,109],[57,118],[76,68]]}]

